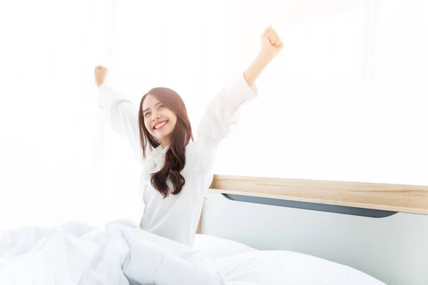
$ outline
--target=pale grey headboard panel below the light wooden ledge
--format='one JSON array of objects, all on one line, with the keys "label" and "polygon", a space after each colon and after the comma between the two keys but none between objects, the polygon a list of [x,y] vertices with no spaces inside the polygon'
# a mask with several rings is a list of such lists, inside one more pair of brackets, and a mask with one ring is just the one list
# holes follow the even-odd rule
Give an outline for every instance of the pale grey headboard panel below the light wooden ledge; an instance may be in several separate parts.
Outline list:
[{"label": "pale grey headboard panel below the light wooden ledge", "polygon": [[388,285],[428,284],[428,215],[399,212],[372,218],[233,201],[210,191],[201,233],[256,249],[318,256]]}]

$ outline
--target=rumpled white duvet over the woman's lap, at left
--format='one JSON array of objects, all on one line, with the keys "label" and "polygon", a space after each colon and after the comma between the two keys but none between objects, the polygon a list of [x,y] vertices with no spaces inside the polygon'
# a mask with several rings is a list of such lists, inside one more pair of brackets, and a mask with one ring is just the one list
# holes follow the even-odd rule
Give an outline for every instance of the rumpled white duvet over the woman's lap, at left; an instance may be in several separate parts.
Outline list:
[{"label": "rumpled white duvet over the woman's lap, at left", "polygon": [[116,221],[103,229],[76,223],[0,234],[2,285],[224,284],[188,246]]}]

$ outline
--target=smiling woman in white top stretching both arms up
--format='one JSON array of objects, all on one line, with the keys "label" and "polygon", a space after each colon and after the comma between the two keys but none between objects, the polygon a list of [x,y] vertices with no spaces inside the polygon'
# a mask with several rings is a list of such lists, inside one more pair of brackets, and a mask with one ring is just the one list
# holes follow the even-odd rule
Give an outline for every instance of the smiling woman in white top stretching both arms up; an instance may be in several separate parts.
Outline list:
[{"label": "smiling woman in white top stretching both arms up", "polygon": [[96,66],[98,105],[143,163],[141,229],[193,246],[218,144],[228,134],[238,107],[257,96],[255,80],[282,47],[272,25],[267,27],[261,35],[260,54],[235,84],[208,104],[195,141],[185,104],[175,91],[153,88],[137,109],[126,96],[104,84],[108,70]]}]

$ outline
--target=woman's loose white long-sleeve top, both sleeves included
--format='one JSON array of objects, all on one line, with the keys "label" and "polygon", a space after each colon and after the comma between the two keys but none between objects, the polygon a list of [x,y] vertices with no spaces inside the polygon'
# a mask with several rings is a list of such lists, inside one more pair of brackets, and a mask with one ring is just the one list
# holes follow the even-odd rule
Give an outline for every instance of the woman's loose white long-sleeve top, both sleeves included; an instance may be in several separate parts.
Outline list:
[{"label": "woman's loose white long-sleeve top, both sleeves included", "polygon": [[[180,172],[185,179],[177,195],[165,199],[151,185],[151,174],[159,171],[168,146],[147,149],[146,159],[140,144],[138,107],[120,92],[102,84],[98,91],[98,106],[105,110],[108,124],[118,134],[128,138],[138,161],[143,165],[140,176],[141,223],[143,230],[193,246],[203,206],[203,199],[213,180],[213,164],[220,141],[230,130],[239,106],[257,96],[255,85],[250,88],[244,76],[222,89],[208,104],[200,121],[195,141],[185,148],[185,166]],[[173,185],[167,181],[170,191]]]}]

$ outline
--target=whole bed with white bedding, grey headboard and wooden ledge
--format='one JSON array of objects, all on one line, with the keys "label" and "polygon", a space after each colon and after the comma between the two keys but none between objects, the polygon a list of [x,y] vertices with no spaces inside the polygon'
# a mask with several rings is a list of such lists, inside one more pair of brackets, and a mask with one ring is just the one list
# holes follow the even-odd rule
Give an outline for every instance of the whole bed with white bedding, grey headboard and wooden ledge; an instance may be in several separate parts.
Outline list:
[{"label": "whole bed with white bedding, grey headboard and wooden ledge", "polygon": [[0,284],[426,285],[428,187],[215,175],[195,246],[136,221],[0,231]]}]

